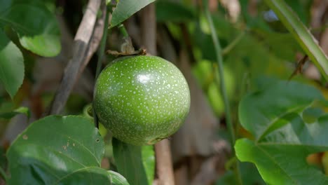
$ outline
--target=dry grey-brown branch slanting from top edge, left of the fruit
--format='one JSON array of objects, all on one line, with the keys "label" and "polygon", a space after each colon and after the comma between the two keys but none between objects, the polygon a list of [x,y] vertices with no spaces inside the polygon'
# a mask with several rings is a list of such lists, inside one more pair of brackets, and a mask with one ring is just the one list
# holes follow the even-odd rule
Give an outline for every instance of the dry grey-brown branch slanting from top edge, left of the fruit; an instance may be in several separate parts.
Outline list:
[{"label": "dry grey-brown branch slanting from top edge, left of the fruit", "polygon": [[73,57],[67,64],[62,77],[62,82],[58,88],[48,114],[60,114],[67,102],[69,94],[76,83],[78,73],[83,61],[86,59],[88,47],[90,47],[91,37],[97,20],[97,11],[100,9],[101,0],[89,1],[81,24],[74,38]]}]

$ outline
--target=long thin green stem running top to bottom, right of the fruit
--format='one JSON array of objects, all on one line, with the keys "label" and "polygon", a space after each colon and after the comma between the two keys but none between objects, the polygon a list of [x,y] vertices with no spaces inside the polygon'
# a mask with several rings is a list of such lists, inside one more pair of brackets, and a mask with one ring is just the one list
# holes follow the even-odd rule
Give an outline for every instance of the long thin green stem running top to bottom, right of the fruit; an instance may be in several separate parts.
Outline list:
[{"label": "long thin green stem running top to bottom, right of the fruit", "polygon": [[[207,22],[210,25],[210,30],[211,30],[211,35],[212,35],[212,40],[214,43],[214,48],[215,48],[215,53],[217,55],[217,65],[218,69],[217,76],[219,77],[219,86],[221,89],[221,95],[223,95],[224,98],[224,107],[226,109],[226,125],[228,126],[228,130],[231,135],[231,149],[233,153],[235,154],[235,150],[233,148],[235,144],[235,130],[233,128],[233,123],[231,121],[231,111],[230,111],[230,105],[228,101],[228,95],[226,93],[226,84],[224,83],[224,66],[223,66],[223,60],[222,60],[222,52],[221,52],[221,46],[219,43],[219,39],[217,38],[217,32],[215,31],[213,20],[210,14],[210,9],[208,7],[208,1],[204,1],[204,8],[205,8],[205,14],[207,18]],[[242,179],[240,176],[240,167],[239,167],[239,162],[235,163],[235,176],[238,181],[238,184],[242,184]]]}]

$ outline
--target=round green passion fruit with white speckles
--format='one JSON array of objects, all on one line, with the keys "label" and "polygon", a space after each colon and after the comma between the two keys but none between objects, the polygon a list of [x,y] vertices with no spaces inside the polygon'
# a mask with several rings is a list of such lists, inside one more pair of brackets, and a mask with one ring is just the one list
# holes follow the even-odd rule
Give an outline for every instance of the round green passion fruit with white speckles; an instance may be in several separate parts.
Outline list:
[{"label": "round green passion fruit with white speckles", "polygon": [[155,56],[121,57],[97,78],[94,106],[114,137],[133,145],[155,144],[182,126],[190,108],[186,79]]}]

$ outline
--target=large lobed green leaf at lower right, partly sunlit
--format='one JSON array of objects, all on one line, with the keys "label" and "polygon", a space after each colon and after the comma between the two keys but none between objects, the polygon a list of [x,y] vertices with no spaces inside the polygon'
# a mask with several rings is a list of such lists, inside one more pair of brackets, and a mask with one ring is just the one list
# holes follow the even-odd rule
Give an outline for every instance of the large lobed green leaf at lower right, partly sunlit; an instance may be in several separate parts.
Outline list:
[{"label": "large lobed green leaf at lower right, partly sunlit", "polygon": [[315,100],[324,101],[318,90],[292,81],[244,97],[240,123],[255,141],[238,139],[238,159],[254,163],[268,184],[327,184],[328,177],[306,163],[310,153],[328,150],[328,115],[313,111]]}]

